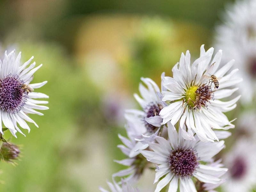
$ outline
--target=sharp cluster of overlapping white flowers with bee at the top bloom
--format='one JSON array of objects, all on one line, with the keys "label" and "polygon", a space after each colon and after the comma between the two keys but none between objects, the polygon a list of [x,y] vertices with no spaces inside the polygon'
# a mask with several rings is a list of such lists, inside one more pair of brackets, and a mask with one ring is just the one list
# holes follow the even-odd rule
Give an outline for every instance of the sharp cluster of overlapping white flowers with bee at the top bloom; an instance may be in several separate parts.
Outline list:
[{"label": "sharp cluster of overlapping white flowers with bee at the top bloom", "polygon": [[235,127],[224,113],[236,108],[240,96],[227,98],[242,79],[235,76],[238,69],[230,71],[234,60],[220,67],[222,51],[213,57],[213,50],[202,45],[193,63],[189,51],[182,53],[173,77],[161,75],[161,91],[152,79],[141,78],[141,97],[134,94],[141,109],[126,111],[128,138],[119,135],[124,145],[118,148],[127,158],[116,162],[128,168],[113,180],[136,183],[156,166],[155,192],[167,185],[173,192],[212,190],[225,181],[228,169],[216,155],[231,135],[225,130]]}]

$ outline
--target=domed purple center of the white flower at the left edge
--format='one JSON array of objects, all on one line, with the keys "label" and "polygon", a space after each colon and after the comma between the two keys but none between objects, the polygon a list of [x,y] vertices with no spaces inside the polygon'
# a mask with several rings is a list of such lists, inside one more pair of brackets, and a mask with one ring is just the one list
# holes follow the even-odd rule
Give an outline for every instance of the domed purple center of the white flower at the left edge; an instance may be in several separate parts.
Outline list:
[{"label": "domed purple center of the white flower at the left edge", "polygon": [[0,107],[8,113],[19,112],[27,101],[27,93],[21,88],[24,82],[19,76],[9,74],[0,79]]}]

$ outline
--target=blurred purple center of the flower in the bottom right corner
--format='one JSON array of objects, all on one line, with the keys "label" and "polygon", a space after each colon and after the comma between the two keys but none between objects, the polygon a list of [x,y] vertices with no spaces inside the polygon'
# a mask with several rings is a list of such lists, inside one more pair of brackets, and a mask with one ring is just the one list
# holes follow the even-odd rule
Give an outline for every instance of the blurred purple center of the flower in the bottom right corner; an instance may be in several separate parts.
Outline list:
[{"label": "blurred purple center of the flower in the bottom right corner", "polygon": [[246,173],[246,162],[244,159],[238,157],[233,161],[232,167],[230,168],[231,177],[234,179],[240,179]]}]

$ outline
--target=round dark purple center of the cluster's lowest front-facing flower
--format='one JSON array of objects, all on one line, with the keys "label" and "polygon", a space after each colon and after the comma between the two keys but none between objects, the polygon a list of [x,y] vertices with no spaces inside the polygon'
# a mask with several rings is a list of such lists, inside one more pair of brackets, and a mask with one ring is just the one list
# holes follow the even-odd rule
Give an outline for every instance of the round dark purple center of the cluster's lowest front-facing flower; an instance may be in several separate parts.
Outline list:
[{"label": "round dark purple center of the cluster's lowest front-facing flower", "polygon": [[198,159],[193,149],[172,150],[168,158],[170,170],[177,177],[191,177],[198,167]]}]

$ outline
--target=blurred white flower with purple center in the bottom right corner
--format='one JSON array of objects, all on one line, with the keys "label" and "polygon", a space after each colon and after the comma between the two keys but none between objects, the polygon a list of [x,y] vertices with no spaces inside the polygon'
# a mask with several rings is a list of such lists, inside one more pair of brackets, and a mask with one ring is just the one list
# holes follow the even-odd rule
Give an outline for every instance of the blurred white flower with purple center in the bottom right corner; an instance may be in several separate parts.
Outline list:
[{"label": "blurred white flower with purple center in the bottom right corner", "polygon": [[256,147],[248,138],[236,141],[231,151],[223,157],[228,167],[227,181],[222,187],[227,192],[251,191],[256,184]]}]

